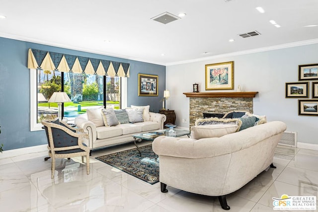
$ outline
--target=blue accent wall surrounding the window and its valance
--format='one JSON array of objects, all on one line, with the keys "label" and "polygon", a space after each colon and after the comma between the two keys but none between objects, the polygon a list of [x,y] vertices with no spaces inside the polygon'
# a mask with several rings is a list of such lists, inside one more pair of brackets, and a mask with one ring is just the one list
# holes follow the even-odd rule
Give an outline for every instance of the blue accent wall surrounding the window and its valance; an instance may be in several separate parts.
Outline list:
[{"label": "blue accent wall surrounding the window and its valance", "polygon": [[[154,112],[162,107],[165,66],[0,37],[0,144],[4,150],[47,144],[43,131],[30,132],[30,48],[130,63],[128,106],[150,105]],[[159,76],[159,96],[138,96],[138,73]]]}]

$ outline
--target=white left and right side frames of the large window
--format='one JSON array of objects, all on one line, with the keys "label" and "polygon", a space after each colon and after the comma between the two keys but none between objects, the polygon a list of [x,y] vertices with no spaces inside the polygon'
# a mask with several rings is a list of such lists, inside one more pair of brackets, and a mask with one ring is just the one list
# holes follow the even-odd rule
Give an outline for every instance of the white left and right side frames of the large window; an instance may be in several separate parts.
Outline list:
[{"label": "white left and right side frames of the large window", "polygon": [[[120,77],[120,107],[127,107],[128,77]],[[105,107],[105,105],[104,105]],[[42,124],[37,123],[37,70],[30,69],[30,131],[40,131]]]}]

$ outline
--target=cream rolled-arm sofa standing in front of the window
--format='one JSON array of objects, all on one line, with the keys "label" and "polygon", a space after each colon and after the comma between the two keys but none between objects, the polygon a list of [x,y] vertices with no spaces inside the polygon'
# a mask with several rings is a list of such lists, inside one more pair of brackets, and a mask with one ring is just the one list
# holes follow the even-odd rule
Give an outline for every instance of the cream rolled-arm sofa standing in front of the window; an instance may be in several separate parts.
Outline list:
[{"label": "cream rolled-arm sofa standing in front of the window", "polygon": [[88,110],[87,113],[79,115],[75,119],[77,127],[88,133],[88,141],[84,141],[89,148],[96,149],[106,146],[133,141],[132,135],[163,129],[166,116],[159,113],[148,112],[142,122],[117,124],[115,126],[105,125],[105,117],[101,109]]}]

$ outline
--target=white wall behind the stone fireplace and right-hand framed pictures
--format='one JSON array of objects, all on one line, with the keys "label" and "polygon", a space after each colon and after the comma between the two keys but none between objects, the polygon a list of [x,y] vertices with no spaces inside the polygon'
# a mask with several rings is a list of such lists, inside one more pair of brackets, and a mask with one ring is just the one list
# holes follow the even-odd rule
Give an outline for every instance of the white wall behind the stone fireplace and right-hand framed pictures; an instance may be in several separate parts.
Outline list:
[{"label": "white wall behind the stone fireplace and right-hand framed pictures", "polygon": [[[170,98],[166,108],[175,111],[176,125],[189,127],[189,98],[183,93],[192,92],[192,84],[197,82],[200,92],[233,92],[240,85],[241,91],[259,92],[253,99],[254,114],[266,115],[268,121],[285,122],[287,131],[297,132],[298,142],[318,144],[318,116],[299,116],[298,99],[285,98],[285,83],[298,81],[298,65],[318,64],[317,55],[318,44],[312,44],[167,66]],[[234,61],[235,89],[205,90],[205,65],[229,61]]]}]

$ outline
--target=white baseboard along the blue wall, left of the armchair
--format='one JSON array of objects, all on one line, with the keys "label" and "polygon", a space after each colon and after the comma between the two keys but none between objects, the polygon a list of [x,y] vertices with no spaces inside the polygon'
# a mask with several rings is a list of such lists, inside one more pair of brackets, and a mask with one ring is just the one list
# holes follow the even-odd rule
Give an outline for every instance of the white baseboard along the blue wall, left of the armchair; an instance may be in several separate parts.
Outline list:
[{"label": "white baseboard along the blue wall, left of the armchair", "polygon": [[24,154],[31,154],[31,153],[37,153],[37,152],[44,152],[44,151],[47,152],[48,151],[47,146],[48,146],[47,144],[43,144],[38,146],[30,146],[25,148],[2,151],[2,154],[0,153],[0,159],[16,157],[16,156],[21,156]]}]

